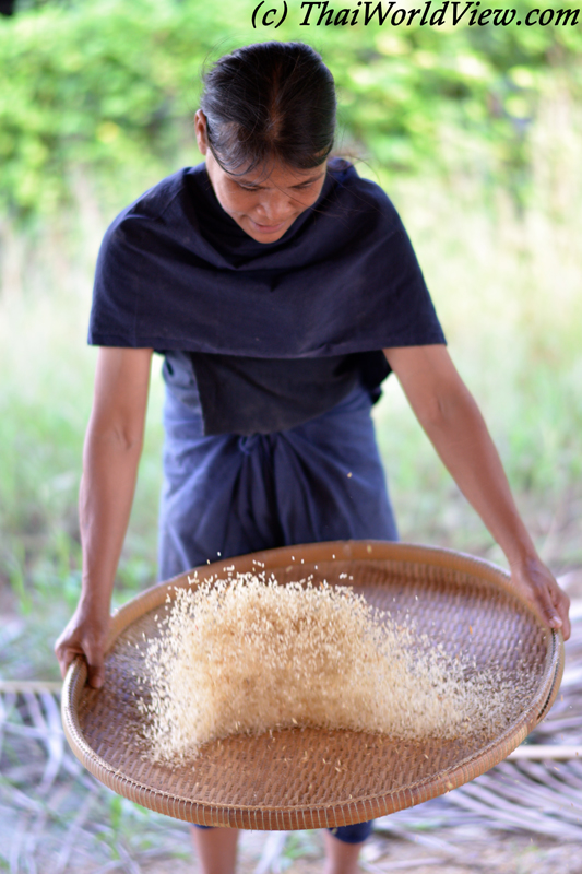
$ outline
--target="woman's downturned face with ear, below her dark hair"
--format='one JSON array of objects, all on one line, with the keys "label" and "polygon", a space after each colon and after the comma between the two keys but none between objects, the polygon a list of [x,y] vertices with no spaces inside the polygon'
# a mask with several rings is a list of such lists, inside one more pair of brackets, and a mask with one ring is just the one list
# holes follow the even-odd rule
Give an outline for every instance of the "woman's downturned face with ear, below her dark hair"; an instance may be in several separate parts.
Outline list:
[{"label": "woman's downturned face with ear, below her dark hair", "polygon": [[195,131],[218,203],[258,243],[275,243],[319,198],[325,179],[325,162],[310,170],[277,163],[269,176],[260,170],[231,176],[209,149],[206,119],[200,110],[195,115]]}]

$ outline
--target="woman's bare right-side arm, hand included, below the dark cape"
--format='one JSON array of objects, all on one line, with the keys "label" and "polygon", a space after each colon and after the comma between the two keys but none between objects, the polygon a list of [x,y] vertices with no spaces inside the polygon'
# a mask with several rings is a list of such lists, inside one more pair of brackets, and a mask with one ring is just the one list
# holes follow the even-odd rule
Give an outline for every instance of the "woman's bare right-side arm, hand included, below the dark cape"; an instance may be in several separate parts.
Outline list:
[{"label": "woman's bare right-side arm, hand included, below the dark cape", "polygon": [[514,584],[568,639],[569,598],[536,553],[487,426],[447,347],[387,349],[384,354],[442,462],[503,550]]}]

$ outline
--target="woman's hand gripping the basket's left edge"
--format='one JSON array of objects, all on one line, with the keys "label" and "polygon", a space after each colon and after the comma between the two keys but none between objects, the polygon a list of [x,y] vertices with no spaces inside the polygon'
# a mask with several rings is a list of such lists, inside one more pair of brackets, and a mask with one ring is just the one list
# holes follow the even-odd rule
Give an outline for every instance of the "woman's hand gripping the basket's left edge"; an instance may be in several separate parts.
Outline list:
[{"label": "woman's hand gripping the basket's left edge", "polygon": [[55,653],[59,660],[61,676],[69,665],[79,657],[87,663],[88,685],[100,688],[105,680],[105,645],[109,630],[109,615],[99,616],[97,611],[87,610],[82,602],[69,619],[67,627],[55,643]]}]

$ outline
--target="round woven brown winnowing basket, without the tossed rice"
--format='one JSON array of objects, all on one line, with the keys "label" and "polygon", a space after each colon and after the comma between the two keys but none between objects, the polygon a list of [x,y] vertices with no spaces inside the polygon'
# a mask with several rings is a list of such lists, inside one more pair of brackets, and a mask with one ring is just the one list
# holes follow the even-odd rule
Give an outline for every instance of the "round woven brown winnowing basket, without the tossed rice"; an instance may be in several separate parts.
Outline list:
[{"label": "round woven brown winnowing basket, without the tossed rice", "polygon": [[[176,766],[152,761],[136,743],[143,717],[136,698],[144,638],[158,634],[176,588],[188,575],[150,589],[112,619],[102,689],[85,685],[78,660],[67,674],[62,719],[82,764],[103,783],[145,807],[207,826],[288,830],[351,825],[419,804],[491,768],[549,710],[563,670],[560,634],[545,627],[486,562],[446,550],[378,541],[317,543],[228,559],[198,569],[202,581],[264,566],[280,583],[312,575],[314,582],[353,586],[381,610],[412,621],[435,645],[502,665],[503,676],[527,671],[533,693],[513,707],[495,739],[420,742],[389,735],[307,728],[206,744]],[[342,576],[341,576],[342,575]],[[138,646],[136,646],[138,645]],[[487,700],[483,701],[487,707]],[[515,716],[516,713],[516,716]]]}]

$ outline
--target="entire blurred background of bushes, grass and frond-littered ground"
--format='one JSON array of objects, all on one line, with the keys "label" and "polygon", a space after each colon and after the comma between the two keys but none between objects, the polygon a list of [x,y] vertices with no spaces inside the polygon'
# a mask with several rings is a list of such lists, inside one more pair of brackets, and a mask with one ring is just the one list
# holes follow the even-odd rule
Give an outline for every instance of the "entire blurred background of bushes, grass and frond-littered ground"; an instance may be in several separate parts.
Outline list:
[{"label": "entire blurred background of bushes, grass and frond-littered ground", "polygon": [[[188,829],[114,795],[67,752],[52,643],[80,590],[100,238],[200,161],[201,64],[239,45],[299,38],[322,52],[337,151],[400,210],[536,545],[582,595],[582,22],[301,27],[288,0],[283,26],[254,31],[253,3],[0,0],[0,869],[14,874],[197,870]],[[117,603],[156,578],[159,364]],[[403,540],[504,564],[393,377],[375,415]],[[573,614],[560,698],[534,746],[580,743],[582,601]],[[575,874],[581,792],[580,759],[503,763],[378,820],[363,869]],[[321,860],[314,832],[242,838],[242,874],[314,874]]]}]

